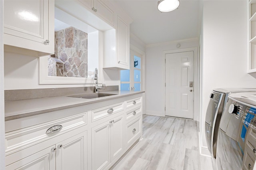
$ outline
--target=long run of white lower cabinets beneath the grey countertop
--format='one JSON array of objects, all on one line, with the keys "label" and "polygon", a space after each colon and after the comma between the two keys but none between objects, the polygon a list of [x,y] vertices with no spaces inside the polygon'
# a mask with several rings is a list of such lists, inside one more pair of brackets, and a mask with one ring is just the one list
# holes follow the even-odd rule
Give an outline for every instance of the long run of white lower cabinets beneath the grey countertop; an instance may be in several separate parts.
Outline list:
[{"label": "long run of white lower cabinets beneath the grey countertop", "polygon": [[140,101],[137,94],[55,111],[60,118],[27,127],[29,117],[7,122],[6,170],[110,169],[142,135]]}]

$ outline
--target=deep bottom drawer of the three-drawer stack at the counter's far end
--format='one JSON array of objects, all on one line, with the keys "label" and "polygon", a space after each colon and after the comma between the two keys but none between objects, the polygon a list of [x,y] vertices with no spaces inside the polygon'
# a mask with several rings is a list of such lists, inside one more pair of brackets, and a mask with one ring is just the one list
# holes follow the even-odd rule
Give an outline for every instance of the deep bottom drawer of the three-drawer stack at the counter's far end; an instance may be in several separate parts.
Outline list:
[{"label": "deep bottom drawer of the three-drawer stack at the counter's far end", "polygon": [[132,143],[133,139],[141,134],[142,117],[138,117],[126,125],[126,144]]}]

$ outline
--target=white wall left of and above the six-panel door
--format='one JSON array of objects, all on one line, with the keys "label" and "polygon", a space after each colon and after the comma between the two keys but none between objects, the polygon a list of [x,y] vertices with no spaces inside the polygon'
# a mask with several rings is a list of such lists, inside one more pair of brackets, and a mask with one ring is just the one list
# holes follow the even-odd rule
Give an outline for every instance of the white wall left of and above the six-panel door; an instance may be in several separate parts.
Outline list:
[{"label": "white wall left of and above the six-panel door", "polygon": [[148,45],[146,47],[146,114],[165,116],[164,59],[163,51],[198,47],[198,40]]}]

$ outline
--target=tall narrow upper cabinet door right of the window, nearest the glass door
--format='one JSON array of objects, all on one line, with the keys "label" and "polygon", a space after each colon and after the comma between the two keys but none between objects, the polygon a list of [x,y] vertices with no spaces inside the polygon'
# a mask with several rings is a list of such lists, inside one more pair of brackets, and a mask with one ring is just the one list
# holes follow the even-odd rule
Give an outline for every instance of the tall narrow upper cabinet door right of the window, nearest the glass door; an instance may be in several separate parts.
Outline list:
[{"label": "tall narrow upper cabinet door right of the window, nearest the glass door", "polygon": [[119,16],[117,18],[117,56],[121,68],[130,69],[129,26]]}]

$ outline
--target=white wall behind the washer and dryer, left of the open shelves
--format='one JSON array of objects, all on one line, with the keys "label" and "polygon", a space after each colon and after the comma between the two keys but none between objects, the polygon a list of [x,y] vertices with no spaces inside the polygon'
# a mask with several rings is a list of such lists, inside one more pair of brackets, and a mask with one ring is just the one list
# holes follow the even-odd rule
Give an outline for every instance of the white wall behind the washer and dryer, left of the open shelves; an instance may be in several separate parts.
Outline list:
[{"label": "white wall behind the washer and dryer, left of the open shelves", "polygon": [[256,74],[246,73],[246,20],[246,1],[204,1],[201,46],[201,148],[207,148],[204,123],[211,90],[220,87],[256,87]]}]

